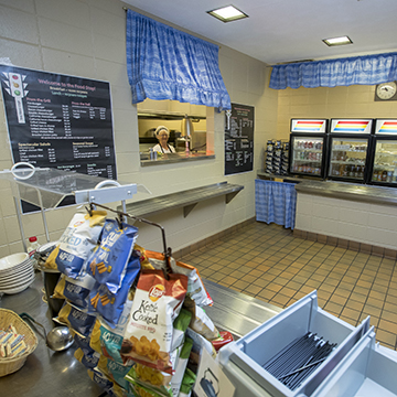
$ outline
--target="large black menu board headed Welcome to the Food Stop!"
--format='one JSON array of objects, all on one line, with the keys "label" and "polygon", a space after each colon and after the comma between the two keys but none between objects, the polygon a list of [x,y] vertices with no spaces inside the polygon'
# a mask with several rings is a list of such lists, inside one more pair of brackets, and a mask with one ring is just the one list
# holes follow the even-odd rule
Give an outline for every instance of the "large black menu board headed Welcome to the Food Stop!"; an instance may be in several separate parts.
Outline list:
[{"label": "large black menu board headed Welcome to the Food Stop!", "polygon": [[0,65],[12,159],[117,179],[107,82]]}]

